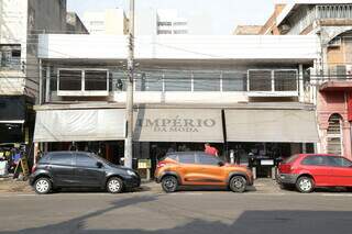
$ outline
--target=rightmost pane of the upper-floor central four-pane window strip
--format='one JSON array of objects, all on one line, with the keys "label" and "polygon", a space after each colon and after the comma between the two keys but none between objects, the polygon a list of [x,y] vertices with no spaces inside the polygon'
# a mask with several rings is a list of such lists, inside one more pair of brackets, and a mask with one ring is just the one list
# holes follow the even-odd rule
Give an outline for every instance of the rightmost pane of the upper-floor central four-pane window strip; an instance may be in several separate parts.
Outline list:
[{"label": "rightmost pane of the upper-floor central four-pane window strip", "polygon": [[246,91],[246,74],[223,73],[222,91]]}]

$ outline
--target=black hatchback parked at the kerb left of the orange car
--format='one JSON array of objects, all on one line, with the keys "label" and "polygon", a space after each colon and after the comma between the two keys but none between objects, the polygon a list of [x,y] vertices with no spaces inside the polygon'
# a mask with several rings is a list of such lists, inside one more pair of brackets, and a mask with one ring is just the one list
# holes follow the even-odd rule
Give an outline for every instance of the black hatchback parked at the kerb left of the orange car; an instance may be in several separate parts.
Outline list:
[{"label": "black hatchback parked at the kerb left of the orange car", "polygon": [[32,168],[30,185],[44,194],[61,188],[100,188],[111,193],[139,187],[134,170],[87,152],[51,152]]}]

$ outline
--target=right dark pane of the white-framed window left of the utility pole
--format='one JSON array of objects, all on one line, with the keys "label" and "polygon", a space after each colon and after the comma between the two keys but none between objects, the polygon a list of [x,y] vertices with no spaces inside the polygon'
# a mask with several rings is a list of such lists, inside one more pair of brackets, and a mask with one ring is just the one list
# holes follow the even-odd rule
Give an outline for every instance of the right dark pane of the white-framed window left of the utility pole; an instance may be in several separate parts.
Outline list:
[{"label": "right dark pane of the white-framed window left of the utility pole", "polygon": [[85,71],[85,90],[108,90],[108,71],[107,70],[86,70]]}]

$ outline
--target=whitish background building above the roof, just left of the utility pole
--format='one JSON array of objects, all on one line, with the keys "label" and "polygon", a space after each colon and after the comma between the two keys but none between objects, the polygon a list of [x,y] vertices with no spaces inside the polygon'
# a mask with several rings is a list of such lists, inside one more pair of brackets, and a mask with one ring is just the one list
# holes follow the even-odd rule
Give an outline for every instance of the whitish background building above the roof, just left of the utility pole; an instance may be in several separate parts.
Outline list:
[{"label": "whitish background building above the roof, just left of the utility pole", "polygon": [[129,29],[123,9],[85,12],[84,23],[90,34],[124,35]]}]

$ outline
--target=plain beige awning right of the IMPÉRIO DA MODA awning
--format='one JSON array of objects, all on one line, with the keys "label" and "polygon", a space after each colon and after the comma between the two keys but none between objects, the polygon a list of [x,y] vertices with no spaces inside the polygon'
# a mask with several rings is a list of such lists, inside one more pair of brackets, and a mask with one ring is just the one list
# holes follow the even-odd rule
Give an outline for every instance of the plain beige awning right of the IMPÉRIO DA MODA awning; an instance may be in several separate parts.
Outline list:
[{"label": "plain beige awning right of the IMP\u00c9RIO DA MODA awning", "polygon": [[315,111],[227,110],[228,142],[318,142]]}]

